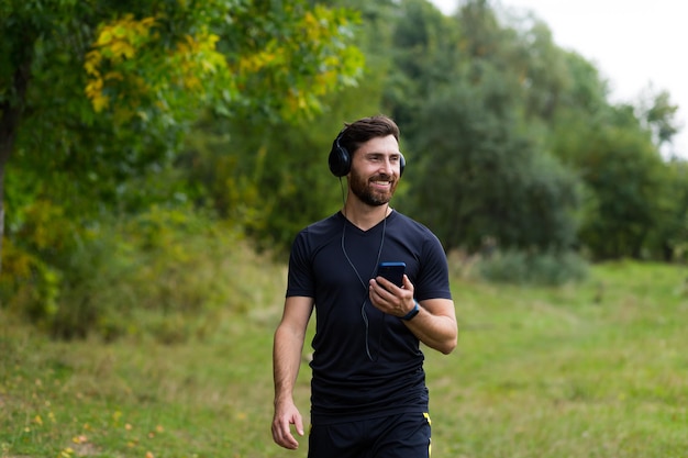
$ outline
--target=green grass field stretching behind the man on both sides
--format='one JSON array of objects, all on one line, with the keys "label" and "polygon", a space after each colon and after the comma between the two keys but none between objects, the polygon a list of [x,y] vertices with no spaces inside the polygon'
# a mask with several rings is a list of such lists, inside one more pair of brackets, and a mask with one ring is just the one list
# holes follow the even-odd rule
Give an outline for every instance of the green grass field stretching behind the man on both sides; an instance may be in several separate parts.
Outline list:
[{"label": "green grass field stretching behind the man on both sides", "polygon": [[[203,342],[52,342],[0,311],[0,454],[306,457],[273,444],[284,269]],[[688,457],[688,271],[617,262],[584,284],[453,281],[459,346],[425,350],[433,457]],[[297,402],[309,409],[303,365]]]}]

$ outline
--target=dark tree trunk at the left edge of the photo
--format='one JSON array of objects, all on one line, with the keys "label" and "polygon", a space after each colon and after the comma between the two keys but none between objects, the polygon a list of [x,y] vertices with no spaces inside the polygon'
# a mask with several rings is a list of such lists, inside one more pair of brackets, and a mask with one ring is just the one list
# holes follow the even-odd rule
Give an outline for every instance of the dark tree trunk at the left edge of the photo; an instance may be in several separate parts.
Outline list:
[{"label": "dark tree trunk at the left edge of the photo", "polygon": [[2,272],[2,239],[4,238],[4,170],[14,149],[30,75],[31,57],[27,57],[14,70],[13,88],[9,98],[0,102],[0,272]]}]

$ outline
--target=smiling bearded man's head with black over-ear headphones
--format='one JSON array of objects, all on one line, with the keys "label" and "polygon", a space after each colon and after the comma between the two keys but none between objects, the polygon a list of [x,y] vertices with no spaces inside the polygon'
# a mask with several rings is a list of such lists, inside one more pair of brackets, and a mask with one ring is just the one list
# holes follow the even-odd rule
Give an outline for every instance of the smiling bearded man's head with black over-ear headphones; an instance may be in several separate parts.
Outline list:
[{"label": "smiling bearded man's head with black over-ear headphones", "polygon": [[347,176],[351,192],[373,206],[390,201],[403,167],[399,127],[381,115],[347,124],[330,153],[332,172]]}]

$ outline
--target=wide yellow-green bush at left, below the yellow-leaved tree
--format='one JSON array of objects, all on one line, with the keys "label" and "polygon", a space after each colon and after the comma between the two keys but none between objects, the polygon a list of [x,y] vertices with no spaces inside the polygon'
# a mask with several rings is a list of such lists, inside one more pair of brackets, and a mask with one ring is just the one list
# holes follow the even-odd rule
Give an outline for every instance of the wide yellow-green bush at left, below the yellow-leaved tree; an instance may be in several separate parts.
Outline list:
[{"label": "wide yellow-green bush at left, below the yellow-leaved tree", "polygon": [[203,337],[219,324],[221,310],[241,313],[258,299],[262,291],[248,287],[256,278],[275,281],[258,273],[260,260],[230,224],[190,208],[152,206],[129,219],[73,227],[69,239],[49,257],[23,247],[23,257],[14,258],[33,260],[24,281],[12,283],[8,279],[15,277],[3,272],[12,310],[58,338]]}]

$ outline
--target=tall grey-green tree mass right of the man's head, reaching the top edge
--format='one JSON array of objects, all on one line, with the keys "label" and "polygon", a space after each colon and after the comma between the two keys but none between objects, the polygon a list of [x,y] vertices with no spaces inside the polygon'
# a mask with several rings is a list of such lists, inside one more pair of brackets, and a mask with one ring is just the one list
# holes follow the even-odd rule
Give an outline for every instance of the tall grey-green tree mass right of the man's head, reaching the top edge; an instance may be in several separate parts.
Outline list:
[{"label": "tall grey-green tree mass right of the man's head, reaching the top edge", "polygon": [[[476,249],[485,236],[514,248],[573,245],[577,179],[525,123],[552,116],[566,81],[546,27],[504,27],[485,0],[462,2],[448,21],[417,1],[401,7],[390,89],[406,90],[387,100],[412,127],[414,214],[446,248]],[[550,60],[555,75],[544,70]]]}]

